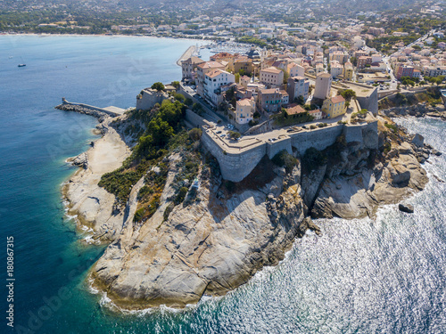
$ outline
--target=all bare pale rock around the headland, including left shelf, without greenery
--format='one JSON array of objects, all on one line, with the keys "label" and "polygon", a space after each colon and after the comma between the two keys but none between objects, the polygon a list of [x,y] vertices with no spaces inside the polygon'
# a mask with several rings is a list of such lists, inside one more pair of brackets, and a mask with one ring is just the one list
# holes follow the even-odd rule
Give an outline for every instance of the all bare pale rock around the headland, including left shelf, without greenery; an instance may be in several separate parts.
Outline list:
[{"label": "all bare pale rock around the headland, including left shelf, without greenery", "polygon": [[[114,305],[129,310],[185,307],[203,295],[223,295],[264,265],[277,265],[307,230],[321,234],[310,216],[373,217],[378,206],[421,191],[428,178],[420,163],[429,154],[441,154],[421,136],[379,117],[379,135],[373,140],[380,151],[363,143],[340,143],[336,154],[312,170],[303,160],[287,170],[264,158],[243,182],[228,188],[218,163],[202,162],[196,200],[170,208],[166,216],[182,159],[170,154],[164,161],[169,173],[159,206],[143,224],[136,224],[144,176],[133,186],[125,208],[115,208],[114,195],[97,185],[129,154],[124,137],[114,128],[119,124],[113,127],[112,118],[98,116],[104,135],[72,160],[81,169],[63,194],[70,215],[77,214],[98,240],[110,243],[92,267],[89,281]],[[126,118],[120,118],[121,124]],[[257,175],[264,176],[261,182]]]}]

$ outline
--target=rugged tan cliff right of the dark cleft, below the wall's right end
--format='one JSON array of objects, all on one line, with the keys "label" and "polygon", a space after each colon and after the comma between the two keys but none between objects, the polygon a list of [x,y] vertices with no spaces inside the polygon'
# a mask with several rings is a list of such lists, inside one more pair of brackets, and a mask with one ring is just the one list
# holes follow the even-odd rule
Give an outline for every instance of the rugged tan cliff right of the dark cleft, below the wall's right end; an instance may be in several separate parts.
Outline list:
[{"label": "rugged tan cliff right of the dark cleft, below the wall's right end", "polygon": [[311,216],[373,217],[379,205],[397,203],[425,187],[429,180],[420,162],[425,162],[432,147],[389,118],[380,118],[378,126],[380,151],[351,143],[336,163],[326,167],[325,178],[317,183]]}]

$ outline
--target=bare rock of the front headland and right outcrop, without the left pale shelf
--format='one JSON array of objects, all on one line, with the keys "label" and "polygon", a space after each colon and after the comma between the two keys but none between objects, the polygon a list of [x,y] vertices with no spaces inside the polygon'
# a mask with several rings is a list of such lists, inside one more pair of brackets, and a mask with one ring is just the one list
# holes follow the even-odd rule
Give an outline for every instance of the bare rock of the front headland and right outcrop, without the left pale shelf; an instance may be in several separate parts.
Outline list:
[{"label": "bare rock of the front headland and right outcrop, without the left pale shelf", "polygon": [[[165,219],[168,182],[155,214],[142,225],[128,221],[105,250],[90,273],[93,285],[125,309],[195,304],[244,284],[264,265],[277,265],[308,229],[320,234],[310,216],[374,216],[379,205],[421,191],[428,178],[416,145],[401,129],[384,126],[388,121],[380,120],[383,132],[376,138],[391,146],[383,155],[353,143],[339,152],[339,161],[310,173],[301,163],[286,171],[266,159],[235,191],[218,173],[200,175],[198,200],[173,208]],[[177,159],[170,157],[171,175]],[[267,170],[268,182],[246,185]]]}]

